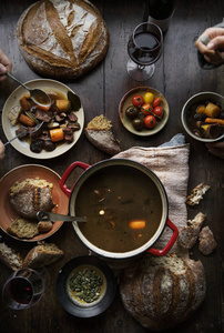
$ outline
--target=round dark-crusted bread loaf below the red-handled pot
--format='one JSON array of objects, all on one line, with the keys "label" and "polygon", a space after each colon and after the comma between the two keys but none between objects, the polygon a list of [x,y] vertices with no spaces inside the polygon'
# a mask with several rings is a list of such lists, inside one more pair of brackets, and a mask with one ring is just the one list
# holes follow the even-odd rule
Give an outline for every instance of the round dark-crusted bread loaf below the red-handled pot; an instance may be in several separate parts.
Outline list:
[{"label": "round dark-crusted bread loaf below the red-handled pot", "polygon": [[152,258],[123,271],[120,293],[124,307],[142,326],[162,331],[186,320],[204,300],[206,290],[201,261],[175,254]]}]

